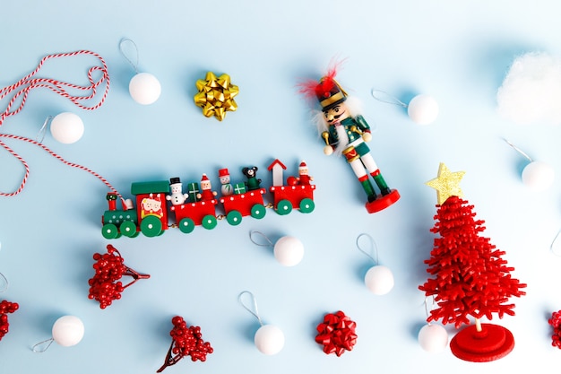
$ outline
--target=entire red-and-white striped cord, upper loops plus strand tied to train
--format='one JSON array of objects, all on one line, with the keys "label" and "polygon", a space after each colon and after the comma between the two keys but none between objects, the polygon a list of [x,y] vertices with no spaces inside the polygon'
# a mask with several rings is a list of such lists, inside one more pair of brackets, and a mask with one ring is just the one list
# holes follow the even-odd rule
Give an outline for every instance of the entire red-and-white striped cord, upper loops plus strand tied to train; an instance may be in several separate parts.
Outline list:
[{"label": "entire red-and-white striped cord, upper loops plus strand tied to train", "polygon": [[[81,86],[81,85],[72,84],[72,83],[59,82],[55,79],[50,79],[50,78],[34,78],[34,75],[39,72],[39,70],[47,62],[47,60],[49,60],[51,58],[57,58],[57,57],[74,57],[74,56],[78,56],[78,55],[91,55],[91,56],[97,57],[99,59],[99,62],[100,62],[101,65],[91,66],[91,68],[88,70],[88,80],[91,83],[90,85]],[[96,81],[93,78],[93,74],[97,71],[101,72],[101,76],[99,77],[99,80]],[[93,99],[96,96],[96,94],[98,93],[99,87],[103,86],[104,84],[105,84],[105,91],[103,91],[103,95],[101,96],[101,98],[100,98],[100,100],[97,104],[92,105],[92,106],[86,106],[86,105],[82,104],[82,101]],[[46,57],[43,57],[41,59],[41,61],[39,62],[39,65],[30,74],[23,77],[18,83],[14,83],[14,84],[12,84],[10,86],[7,86],[7,87],[4,87],[3,89],[0,90],[0,100],[3,100],[7,95],[15,92],[15,93],[13,93],[13,97],[9,101],[6,109],[0,114],[0,126],[2,126],[5,118],[16,115],[17,113],[19,113],[23,109],[23,106],[25,105],[25,101],[27,100],[27,97],[28,97],[30,91],[32,89],[36,89],[36,88],[47,88],[51,91],[54,91],[57,94],[67,98],[68,100],[71,100],[79,108],[87,109],[87,110],[98,109],[105,102],[105,99],[107,98],[108,91],[109,91],[108,65],[105,63],[105,60],[103,59],[103,57],[100,57],[97,53],[91,52],[89,50],[78,50],[78,51],[75,51],[75,52],[59,53],[59,54],[48,55]],[[67,91],[68,89],[77,90],[77,91],[86,91],[86,94],[84,94],[82,96],[71,95],[70,93],[68,93],[68,91]],[[16,100],[18,100],[18,98],[20,96],[22,97],[21,101],[20,101],[20,105],[17,108],[11,110],[12,107],[13,107],[13,104],[15,103]],[[11,134],[2,134],[2,133],[0,133],[0,137],[20,140],[20,141],[27,142],[27,143],[30,143],[30,144],[35,144],[35,145],[43,148],[43,150],[48,152],[51,156],[55,157],[59,161],[62,161],[66,165],[71,166],[73,168],[77,168],[77,169],[81,169],[81,170],[85,170],[85,171],[89,172],[91,175],[95,176],[96,178],[99,178],[99,180],[101,180],[107,187],[109,187],[109,189],[111,191],[115,192],[117,194],[117,196],[119,196],[121,198],[121,201],[124,203],[123,207],[124,207],[124,209],[126,209],[125,199],[123,198],[123,196],[121,196],[121,194],[118,193],[117,189],[115,189],[113,186],[111,186],[111,184],[108,182],[108,180],[106,178],[101,177],[95,171],[90,170],[90,169],[88,169],[88,168],[86,168],[82,165],[79,165],[79,164],[76,164],[76,163],[73,163],[73,162],[69,162],[69,161],[65,161],[65,159],[63,159],[61,156],[56,154],[56,152],[53,152],[52,150],[50,150],[46,145],[41,144],[41,143],[39,143],[35,140],[32,140],[28,137],[19,136],[19,135],[11,135]],[[22,184],[20,185],[20,187],[18,187],[15,191],[10,192],[10,193],[5,193],[5,192],[0,191],[0,196],[16,196],[16,195],[20,194],[23,190],[23,187],[25,187],[27,179],[30,175],[30,167],[29,167],[28,163],[25,160],[23,160],[22,156],[20,156],[17,152],[14,152],[13,149],[10,148],[3,141],[0,141],[0,145],[2,145],[6,151],[10,152],[13,155],[13,157],[15,157],[17,160],[22,162],[22,165],[25,168],[25,175],[22,178]]]}]

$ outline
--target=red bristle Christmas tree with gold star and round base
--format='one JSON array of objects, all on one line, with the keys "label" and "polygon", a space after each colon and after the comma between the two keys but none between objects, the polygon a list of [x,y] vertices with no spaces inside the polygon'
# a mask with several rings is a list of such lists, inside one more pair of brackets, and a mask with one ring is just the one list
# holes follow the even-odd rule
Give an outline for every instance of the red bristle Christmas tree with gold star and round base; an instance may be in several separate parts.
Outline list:
[{"label": "red bristle Christmas tree with gold star and round base", "polygon": [[514,348],[514,337],[505,327],[481,324],[480,318],[514,316],[510,297],[520,297],[526,284],[514,279],[501,258],[505,251],[496,249],[480,233],[484,221],[475,220],[473,205],[462,200],[459,182],[463,172],[450,172],[441,163],[438,178],[427,185],[438,194],[436,224],[431,232],[435,239],[430,258],[425,261],[427,273],[434,276],[419,286],[426,296],[434,296],[438,308],[431,310],[427,322],[442,319],[443,324],[456,328],[470,324],[456,334],[450,342],[455,356],[466,361],[494,361],[504,357]]}]

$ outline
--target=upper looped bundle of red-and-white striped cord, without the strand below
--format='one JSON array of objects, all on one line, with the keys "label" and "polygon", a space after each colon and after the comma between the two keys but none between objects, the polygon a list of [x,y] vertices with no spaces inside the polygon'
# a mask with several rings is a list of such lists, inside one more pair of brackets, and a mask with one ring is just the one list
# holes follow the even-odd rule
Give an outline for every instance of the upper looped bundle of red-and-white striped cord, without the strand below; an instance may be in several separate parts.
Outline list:
[{"label": "upper looped bundle of red-and-white striped cord, without the strand below", "polygon": [[[57,81],[56,79],[51,78],[35,78],[35,74],[39,73],[41,67],[47,62],[47,60],[52,58],[58,57],[74,57],[79,55],[91,55],[93,57],[97,57],[101,65],[94,65],[88,70],[88,80],[90,81],[90,85],[81,86],[73,83],[65,83]],[[97,71],[101,72],[101,76],[99,80],[95,81],[93,78],[93,74]],[[92,106],[86,106],[82,104],[85,100],[93,99],[100,86],[105,84],[105,91],[101,96],[99,102]],[[39,65],[33,70],[30,74],[23,77],[19,82],[14,83],[10,86],[4,87],[0,90],[0,100],[3,100],[9,94],[13,94],[12,99],[8,102],[6,109],[0,114],[0,126],[4,123],[4,119],[7,117],[11,117],[17,113],[19,113],[23,106],[25,105],[25,101],[31,90],[36,88],[47,88],[51,91],[58,93],[61,96],[64,96],[68,100],[71,100],[77,107],[87,110],[98,109],[103,102],[105,101],[108,91],[109,91],[109,74],[108,74],[108,65],[105,63],[103,57],[100,57],[97,53],[91,52],[89,50],[78,50],[75,52],[69,53],[58,53],[55,55],[48,55],[43,57],[39,62]],[[68,89],[77,90],[77,91],[86,91],[86,94],[80,95],[71,95],[68,93]],[[14,93],[15,92],[15,93]],[[18,98],[21,98],[20,105],[12,110],[13,104],[15,103]]]}]

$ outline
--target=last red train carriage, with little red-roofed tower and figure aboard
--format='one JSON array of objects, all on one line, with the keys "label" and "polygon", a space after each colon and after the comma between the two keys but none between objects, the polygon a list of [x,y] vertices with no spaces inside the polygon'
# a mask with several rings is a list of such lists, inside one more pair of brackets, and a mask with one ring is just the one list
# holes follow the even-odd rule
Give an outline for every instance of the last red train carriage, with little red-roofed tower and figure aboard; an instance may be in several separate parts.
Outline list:
[{"label": "last red train carriage, with little red-roofed tower and figure aboard", "polygon": [[315,209],[314,190],[310,184],[313,178],[307,175],[306,162],[300,163],[298,177],[287,178],[288,186],[284,185],[282,171],[286,166],[279,160],[272,161],[268,170],[272,171],[272,187],[269,188],[273,196],[273,206],[281,215],[289,214],[296,207],[301,213],[311,213]]}]

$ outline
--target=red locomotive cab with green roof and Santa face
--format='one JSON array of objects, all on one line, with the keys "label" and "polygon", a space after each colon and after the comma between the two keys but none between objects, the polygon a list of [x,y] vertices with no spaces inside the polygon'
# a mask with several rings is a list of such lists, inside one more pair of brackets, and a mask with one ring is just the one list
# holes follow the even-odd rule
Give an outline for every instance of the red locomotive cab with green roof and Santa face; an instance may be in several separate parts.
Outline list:
[{"label": "red locomotive cab with green roof and Santa face", "polygon": [[131,193],[136,196],[136,212],[142,234],[155,237],[168,230],[166,195],[169,193],[169,182],[135,182]]}]

